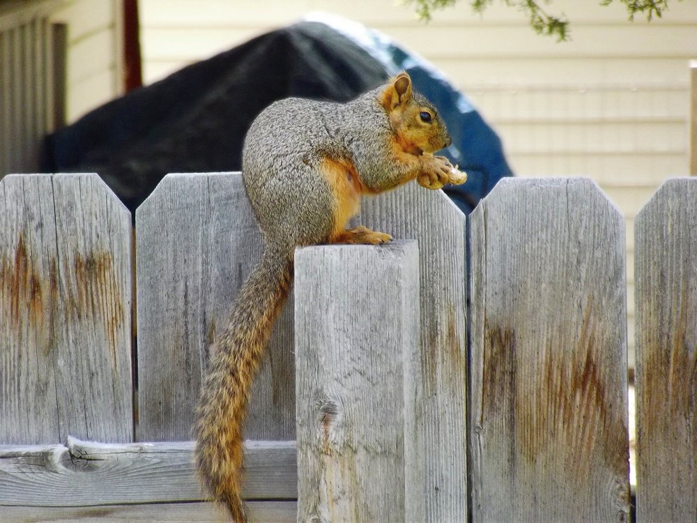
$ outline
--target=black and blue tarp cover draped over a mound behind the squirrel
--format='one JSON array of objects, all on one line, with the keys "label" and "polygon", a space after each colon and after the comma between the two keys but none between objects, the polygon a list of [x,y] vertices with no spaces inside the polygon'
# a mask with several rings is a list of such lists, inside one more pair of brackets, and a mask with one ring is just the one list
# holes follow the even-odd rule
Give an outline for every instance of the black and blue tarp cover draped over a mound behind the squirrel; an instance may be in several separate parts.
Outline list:
[{"label": "black and blue tarp cover draped over a mound behind the squirrel", "polygon": [[363,31],[353,38],[335,23],[299,22],[187,66],[47,137],[42,170],[97,172],[134,212],[167,173],[240,170],[245,132],[274,100],[346,101],[406,68],[446,119],[449,156],[469,176],[446,192],[470,211],[511,174],[500,140],[427,63]]}]

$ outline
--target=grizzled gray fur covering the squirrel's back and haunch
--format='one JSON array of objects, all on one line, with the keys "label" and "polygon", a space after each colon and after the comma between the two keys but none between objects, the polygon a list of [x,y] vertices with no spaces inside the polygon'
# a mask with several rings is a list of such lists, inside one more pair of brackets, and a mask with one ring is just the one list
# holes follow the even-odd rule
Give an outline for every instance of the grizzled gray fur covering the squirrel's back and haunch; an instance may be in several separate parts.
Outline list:
[{"label": "grizzled gray fur covering the squirrel's back and haunch", "polygon": [[[385,89],[345,104],[286,98],[256,117],[245,137],[243,179],[267,245],[292,252],[327,241],[334,196],[319,171],[323,158],[350,160],[375,192],[403,181],[406,167],[385,161],[395,135],[380,103]],[[412,93],[412,99],[435,114],[423,96]]]}]

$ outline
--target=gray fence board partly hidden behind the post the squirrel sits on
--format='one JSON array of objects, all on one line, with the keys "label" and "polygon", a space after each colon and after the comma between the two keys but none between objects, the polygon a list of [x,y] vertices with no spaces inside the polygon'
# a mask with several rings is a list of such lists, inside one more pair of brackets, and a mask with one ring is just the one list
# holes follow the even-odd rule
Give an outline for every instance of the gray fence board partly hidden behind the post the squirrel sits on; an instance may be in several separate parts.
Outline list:
[{"label": "gray fence board partly hidden behind the post the squirrel sits on", "polygon": [[353,222],[419,242],[427,521],[466,521],[465,216],[442,191],[408,183],[365,199]]}]

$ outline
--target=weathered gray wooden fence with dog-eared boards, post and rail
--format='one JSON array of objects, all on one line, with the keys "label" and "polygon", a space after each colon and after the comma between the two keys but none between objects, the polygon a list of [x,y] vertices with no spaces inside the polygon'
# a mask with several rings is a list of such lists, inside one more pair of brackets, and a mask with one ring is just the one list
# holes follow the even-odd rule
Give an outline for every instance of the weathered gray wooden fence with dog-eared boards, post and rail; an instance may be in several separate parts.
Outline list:
[{"label": "weathered gray wooden fence with dog-eared boards, post and rail", "polygon": [[[666,181],[636,219],[638,522],[697,520],[696,201]],[[442,192],[357,222],[397,241],[296,255],[247,423],[252,520],[628,521],[625,231],[597,185],[502,181],[470,268]],[[134,254],[95,174],[0,181],[3,522],[225,520],[193,408],[261,236],[238,174],[167,176],[135,231]]]}]

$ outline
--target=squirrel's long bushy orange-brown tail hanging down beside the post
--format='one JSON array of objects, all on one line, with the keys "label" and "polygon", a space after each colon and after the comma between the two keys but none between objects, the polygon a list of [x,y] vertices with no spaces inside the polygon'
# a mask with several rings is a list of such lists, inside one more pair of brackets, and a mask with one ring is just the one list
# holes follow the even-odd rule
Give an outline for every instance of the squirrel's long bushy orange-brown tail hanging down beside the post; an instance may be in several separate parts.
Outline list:
[{"label": "squirrel's long bushy orange-brown tail hanging down beside the post", "polygon": [[196,460],[216,501],[246,522],[241,497],[243,422],[252,381],[293,280],[292,255],[266,249],[217,338],[197,409]]}]

